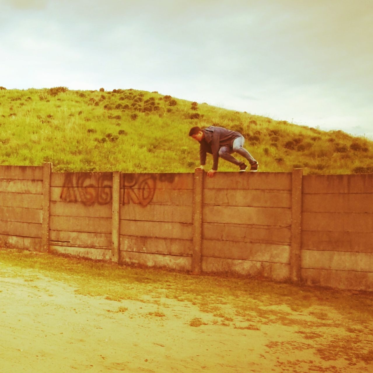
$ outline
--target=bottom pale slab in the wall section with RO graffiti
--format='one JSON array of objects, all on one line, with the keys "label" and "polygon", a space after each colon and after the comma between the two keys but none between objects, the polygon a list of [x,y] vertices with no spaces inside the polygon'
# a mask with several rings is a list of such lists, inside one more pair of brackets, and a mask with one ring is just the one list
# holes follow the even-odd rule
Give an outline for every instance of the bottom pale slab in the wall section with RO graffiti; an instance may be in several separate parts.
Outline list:
[{"label": "bottom pale slab in the wall section with RO graffiti", "polygon": [[136,264],[147,267],[164,267],[178,271],[190,271],[192,269],[192,257],[176,255],[120,251],[120,262],[123,264]]}]

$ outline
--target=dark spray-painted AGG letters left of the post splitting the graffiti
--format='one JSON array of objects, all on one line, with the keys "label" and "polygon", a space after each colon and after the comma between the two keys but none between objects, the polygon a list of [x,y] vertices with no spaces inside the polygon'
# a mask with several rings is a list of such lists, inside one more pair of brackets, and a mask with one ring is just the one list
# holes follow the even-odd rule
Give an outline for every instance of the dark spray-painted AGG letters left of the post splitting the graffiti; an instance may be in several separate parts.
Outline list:
[{"label": "dark spray-painted AGG letters left of the post splitting the graffiti", "polygon": [[112,201],[110,173],[66,173],[60,199],[65,202],[81,202],[84,206],[95,203],[106,205]]}]

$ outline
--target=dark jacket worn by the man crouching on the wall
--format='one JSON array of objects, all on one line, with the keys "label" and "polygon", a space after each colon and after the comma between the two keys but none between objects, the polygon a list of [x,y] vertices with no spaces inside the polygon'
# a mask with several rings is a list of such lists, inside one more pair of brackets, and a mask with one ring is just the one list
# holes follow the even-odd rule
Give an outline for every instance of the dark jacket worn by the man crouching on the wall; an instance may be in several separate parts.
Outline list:
[{"label": "dark jacket worn by the man crouching on the wall", "polygon": [[229,146],[231,148],[233,146],[233,141],[242,135],[239,132],[215,126],[204,128],[202,132],[205,137],[199,141],[199,158],[201,160],[201,165],[204,166],[206,164],[206,153],[210,153],[212,154],[214,162],[212,169],[217,171],[219,149],[222,146]]}]

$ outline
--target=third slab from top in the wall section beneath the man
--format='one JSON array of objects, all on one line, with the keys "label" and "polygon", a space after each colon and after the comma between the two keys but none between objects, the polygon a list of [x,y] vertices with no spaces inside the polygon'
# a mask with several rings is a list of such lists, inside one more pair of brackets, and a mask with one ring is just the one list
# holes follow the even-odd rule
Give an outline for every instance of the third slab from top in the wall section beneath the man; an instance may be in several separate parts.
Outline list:
[{"label": "third slab from top in the wall section beneath the man", "polygon": [[204,206],[203,222],[290,226],[291,210],[267,207]]}]

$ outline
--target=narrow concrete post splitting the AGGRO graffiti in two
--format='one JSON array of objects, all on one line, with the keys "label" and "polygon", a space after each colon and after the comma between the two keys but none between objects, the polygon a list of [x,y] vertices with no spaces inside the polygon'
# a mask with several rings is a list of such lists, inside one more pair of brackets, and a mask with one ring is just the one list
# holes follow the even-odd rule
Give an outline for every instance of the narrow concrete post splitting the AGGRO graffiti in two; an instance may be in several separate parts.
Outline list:
[{"label": "narrow concrete post splitting the AGGRO graffiti in two", "polygon": [[113,172],[111,260],[114,261],[115,263],[119,263],[120,175],[121,173],[118,171]]}]

